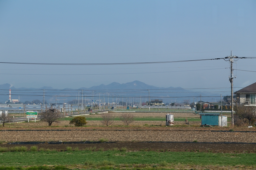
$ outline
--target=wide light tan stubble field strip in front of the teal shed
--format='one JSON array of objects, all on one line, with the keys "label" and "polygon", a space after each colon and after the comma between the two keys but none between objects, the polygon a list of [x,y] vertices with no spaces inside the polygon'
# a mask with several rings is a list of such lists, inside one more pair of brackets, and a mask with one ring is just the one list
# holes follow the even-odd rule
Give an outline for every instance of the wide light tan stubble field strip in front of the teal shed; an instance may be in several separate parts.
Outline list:
[{"label": "wide light tan stubble field strip in front of the teal shed", "polygon": [[256,143],[255,132],[196,130],[55,130],[0,131],[0,141],[164,141],[164,142],[243,142]]}]

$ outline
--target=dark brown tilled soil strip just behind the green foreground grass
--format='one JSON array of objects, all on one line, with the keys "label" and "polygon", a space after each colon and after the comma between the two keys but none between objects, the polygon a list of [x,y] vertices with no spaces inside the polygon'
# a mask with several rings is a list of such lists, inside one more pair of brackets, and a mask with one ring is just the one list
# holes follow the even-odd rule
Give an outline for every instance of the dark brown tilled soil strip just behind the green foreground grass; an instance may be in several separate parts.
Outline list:
[{"label": "dark brown tilled soil strip just behind the green foreground grass", "polygon": [[[16,144],[0,144],[0,147],[14,147]],[[213,152],[213,153],[256,153],[255,144],[212,144],[212,143],[163,143],[163,142],[116,142],[97,144],[19,144],[19,146],[37,146],[38,149],[65,151],[67,147],[79,150],[113,150],[127,148],[127,151],[159,151],[159,152]]]}]

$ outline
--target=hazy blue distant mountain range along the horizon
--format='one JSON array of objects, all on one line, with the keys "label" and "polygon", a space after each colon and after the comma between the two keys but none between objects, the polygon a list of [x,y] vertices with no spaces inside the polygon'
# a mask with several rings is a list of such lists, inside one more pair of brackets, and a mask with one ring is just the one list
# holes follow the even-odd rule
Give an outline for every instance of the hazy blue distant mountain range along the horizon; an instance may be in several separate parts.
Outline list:
[{"label": "hazy blue distant mountain range along the horizon", "polygon": [[[55,103],[55,102],[62,102],[65,99],[66,101],[71,101],[78,98],[78,90],[84,90],[83,96],[87,96],[87,99],[89,100],[92,98],[92,91],[94,91],[94,99],[99,100],[99,93],[101,93],[101,97],[103,96],[103,93],[106,96],[109,97],[116,97],[119,95],[119,97],[142,97],[143,101],[148,99],[148,89],[150,90],[150,99],[163,99],[164,103],[168,102],[174,102],[175,100],[177,102],[183,101],[185,99],[190,98],[190,101],[193,101],[193,97],[199,97],[200,92],[193,92],[191,90],[186,90],[181,87],[156,87],[153,85],[147,85],[140,81],[133,81],[128,83],[116,83],[113,82],[109,85],[98,85],[98,86],[92,86],[90,88],[81,87],[79,89],[71,89],[71,88],[65,88],[65,89],[54,89],[52,87],[44,86],[41,88],[15,88],[14,86],[11,86],[10,84],[3,84],[0,85],[0,102],[4,103],[7,99],[9,99],[9,89],[12,90],[12,99],[18,99],[20,98],[21,102],[24,102],[26,100],[32,101],[32,100],[43,100],[43,89],[45,89],[45,100],[48,101],[48,103]],[[201,92],[202,96],[219,96],[218,93],[205,93]],[[81,98],[81,91],[80,91],[80,98]],[[57,97],[56,97],[57,96]],[[56,100],[57,99],[57,100]],[[198,98],[198,101],[200,100],[200,97]],[[203,99],[202,99],[203,100]],[[204,99],[208,101],[208,99]],[[211,101],[212,98],[209,100]],[[218,98],[218,100],[220,100]],[[120,100],[121,101],[121,100]],[[124,100],[125,101],[125,100]],[[148,100],[147,100],[148,101]],[[196,99],[195,99],[196,101]],[[214,100],[215,101],[215,100]]]}]

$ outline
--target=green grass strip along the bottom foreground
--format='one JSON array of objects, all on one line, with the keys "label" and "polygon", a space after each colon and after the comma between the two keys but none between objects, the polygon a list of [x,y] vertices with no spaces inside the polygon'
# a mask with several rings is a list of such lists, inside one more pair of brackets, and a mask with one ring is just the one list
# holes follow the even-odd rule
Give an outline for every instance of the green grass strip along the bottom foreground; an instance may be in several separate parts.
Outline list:
[{"label": "green grass strip along the bottom foreground", "polygon": [[[96,151],[92,148],[86,151],[27,151],[27,152],[2,152],[0,154],[0,169],[7,169],[9,166],[43,166],[59,165],[59,169],[65,169],[68,165],[74,167],[84,166],[84,168],[93,167],[95,169],[104,169],[102,166],[108,166],[106,169],[120,169],[120,166],[136,167],[136,165],[150,165],[151,169],[158,167],[168,167],[170,165],[200,165],[200,166],[255,166],[256,154],[254,153],[211,153],[211,152],[153,152],[139,151],[126,152],[125,148],[121,150]],[[62,167],[62,168],[61,168]],[[100,168],[101,167],[101,168]],[[36,169],[36,167],[34,168]],[[41,168],[42,169],[42,168]],[[123,169],[123,168],[122,168]],[[140,168],[141,169],[141,168]],[[147,169],[147,168],[146,168]]]}]

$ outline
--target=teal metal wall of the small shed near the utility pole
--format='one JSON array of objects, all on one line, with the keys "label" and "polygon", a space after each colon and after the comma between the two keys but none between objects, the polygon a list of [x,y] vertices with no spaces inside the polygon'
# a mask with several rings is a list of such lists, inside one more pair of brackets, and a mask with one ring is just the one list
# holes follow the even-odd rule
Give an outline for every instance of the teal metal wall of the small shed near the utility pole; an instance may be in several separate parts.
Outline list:
[{"label": "teal metal wall of the small shed near the utility pole", "polygon": [[201,125],[219,125],[219,113],[199,113],[201,118]]}]

